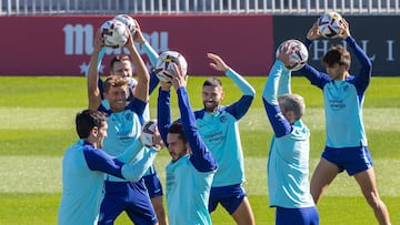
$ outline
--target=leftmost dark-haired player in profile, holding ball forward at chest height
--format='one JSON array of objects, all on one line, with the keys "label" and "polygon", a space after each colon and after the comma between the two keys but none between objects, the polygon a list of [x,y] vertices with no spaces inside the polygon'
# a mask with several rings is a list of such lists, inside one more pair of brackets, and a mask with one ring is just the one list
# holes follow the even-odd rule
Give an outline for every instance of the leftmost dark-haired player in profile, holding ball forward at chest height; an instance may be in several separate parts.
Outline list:
[{"label": "leftmost dark-haired player in profile, holding ball forward at chest height", "polygon": [[[62,157],[59,225],[97,224],[103,196],[104,173],[137,182],[161,149],[161,137],[156,133],[154,146],[143,149],[143,144],[136,140],[121,155],[110,156],[100,150],[107,136],[107,115],[100,111],[84,110],[76,116],[80,140],[71,145]],[[142,154],[142,157],[131,163],[137,154]]]}]

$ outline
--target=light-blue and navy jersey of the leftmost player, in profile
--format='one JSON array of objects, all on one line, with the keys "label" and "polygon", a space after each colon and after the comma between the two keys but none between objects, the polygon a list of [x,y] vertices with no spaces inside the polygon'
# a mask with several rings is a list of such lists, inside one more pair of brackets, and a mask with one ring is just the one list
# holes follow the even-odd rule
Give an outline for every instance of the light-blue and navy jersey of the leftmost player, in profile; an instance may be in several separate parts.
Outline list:
[{"label": "light-blue and navy jersey of the leftmost player, in profile", "polygon": [[152,164],[157,151],[149,149],[143,160],[131,163],[142,150],[137,141],[117,158],[92,144],[79,140],[62,158],[62,196],[58,211],[58,224],[97,224],[103,198],[104,173],[137,182]]}]

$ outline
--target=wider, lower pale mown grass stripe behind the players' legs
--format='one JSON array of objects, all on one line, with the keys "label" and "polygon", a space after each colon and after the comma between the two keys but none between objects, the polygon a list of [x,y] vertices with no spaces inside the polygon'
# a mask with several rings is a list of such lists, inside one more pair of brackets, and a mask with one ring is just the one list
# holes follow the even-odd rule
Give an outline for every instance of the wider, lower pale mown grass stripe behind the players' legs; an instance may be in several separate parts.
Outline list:
[{"label": "wider, lower pale mown grass stripe behind the players' legs", "polygon": [[[170,157],[159,155],[156,167],[164,181],[164,166]],[[311,171],[319,158],[310,161]],[[267,158],[246,158],[249,195],[267,195]],[[378,190],[382,196],[400,196],[400,160],[374,160]],[[61,193],[61,157],[51,156],[1,156],[0,193]],[[339,174],[329,187],[330,196],[360,196],[354,178]]]}]

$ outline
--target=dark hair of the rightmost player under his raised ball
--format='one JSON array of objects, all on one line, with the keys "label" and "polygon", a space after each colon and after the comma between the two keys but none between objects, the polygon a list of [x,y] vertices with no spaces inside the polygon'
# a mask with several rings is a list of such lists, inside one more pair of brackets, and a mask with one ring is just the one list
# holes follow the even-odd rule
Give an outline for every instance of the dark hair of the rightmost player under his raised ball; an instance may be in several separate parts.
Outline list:
[{"label": "dark hair of the rightmost player under his raised ball", "polygon": [[350,69],[351,55],[348,50],[341,44],[332,45],[328,52],[322,58],[322,63],[326,67],[332,67],[338,63],[339,65],[344,65],[346,70]]}]

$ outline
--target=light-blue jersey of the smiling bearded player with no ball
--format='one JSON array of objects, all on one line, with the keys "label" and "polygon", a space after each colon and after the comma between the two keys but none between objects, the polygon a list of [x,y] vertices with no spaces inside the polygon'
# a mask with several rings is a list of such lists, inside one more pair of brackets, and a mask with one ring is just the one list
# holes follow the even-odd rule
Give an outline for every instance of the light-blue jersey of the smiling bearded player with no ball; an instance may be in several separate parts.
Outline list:
[{"label": "light-blue jersey of the smiling bearded player with no ball", "polygon": [[194,112],[201,137],[218,162],[212,187],[241,184],[246,181],[239,121],[248,112],[256,91],[233,70],[228,70],[227,76],[242,91],[241,99],[229,106],[220,106],[216,112]]}]

